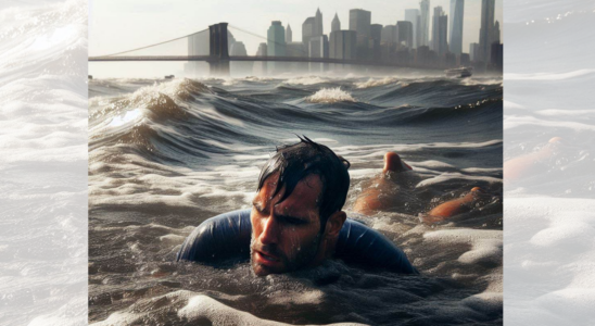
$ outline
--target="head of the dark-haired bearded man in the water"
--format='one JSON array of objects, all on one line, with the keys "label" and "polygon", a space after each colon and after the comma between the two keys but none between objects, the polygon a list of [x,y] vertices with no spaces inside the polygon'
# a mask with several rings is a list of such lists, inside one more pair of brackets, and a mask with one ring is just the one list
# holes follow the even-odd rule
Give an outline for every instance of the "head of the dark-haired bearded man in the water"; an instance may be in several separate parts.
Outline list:
[{"label": "head of the dark-haired bearded man in the water", "polygon": [[251,261],[258,276],[314,266],[332,254],[346,215],[350,163],[304,137],[277,149],[258,177]]}]

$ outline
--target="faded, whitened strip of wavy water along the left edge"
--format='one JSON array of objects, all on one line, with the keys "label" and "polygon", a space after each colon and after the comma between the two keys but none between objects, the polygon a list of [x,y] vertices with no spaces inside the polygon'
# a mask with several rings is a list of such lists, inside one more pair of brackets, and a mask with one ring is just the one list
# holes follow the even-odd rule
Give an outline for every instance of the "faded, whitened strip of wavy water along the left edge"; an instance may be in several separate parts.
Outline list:
[{"label": "faded, whitened strip of wavy water along the left edge", "polygon": [[0,4],[0,325],[87,321],[85,5]]}]

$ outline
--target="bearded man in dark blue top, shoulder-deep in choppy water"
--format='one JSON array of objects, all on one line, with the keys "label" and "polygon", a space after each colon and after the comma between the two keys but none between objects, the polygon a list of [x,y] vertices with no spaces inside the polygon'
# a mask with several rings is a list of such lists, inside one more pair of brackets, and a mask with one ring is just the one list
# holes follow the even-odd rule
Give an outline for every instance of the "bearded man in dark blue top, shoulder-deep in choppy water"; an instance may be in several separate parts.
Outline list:
[{"label": "bearded man in dark blue top, shoulder-deep in choppy water", "polygon": [[177,260],[217,263],[245,255],[249,248],[257,276],[313,267],[329,258],[417,274],[389,239],[346,218],[350,163],[326,146],[300,139],[278,148],[263,167],[252,210],[203,222]]}]

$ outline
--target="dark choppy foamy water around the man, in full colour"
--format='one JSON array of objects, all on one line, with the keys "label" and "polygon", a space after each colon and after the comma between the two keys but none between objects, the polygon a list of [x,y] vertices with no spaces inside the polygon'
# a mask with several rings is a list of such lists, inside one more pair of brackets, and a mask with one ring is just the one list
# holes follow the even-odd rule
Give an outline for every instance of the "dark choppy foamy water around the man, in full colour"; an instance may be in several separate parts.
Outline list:
[{"label": "dark choppy foamy water around the man, in full colour", "polygon": [[[502,323],[502,95],[499,77],[438,75],[91,80],[89,321]],[[173,262],[202,221],[250,208],[259,167],[294,134],[351,161],[347,211],[387,151],[419,173],[409,203],[367,222],[421,276]],[[474,186],[492,193],[484,206],[419,223]]]}]

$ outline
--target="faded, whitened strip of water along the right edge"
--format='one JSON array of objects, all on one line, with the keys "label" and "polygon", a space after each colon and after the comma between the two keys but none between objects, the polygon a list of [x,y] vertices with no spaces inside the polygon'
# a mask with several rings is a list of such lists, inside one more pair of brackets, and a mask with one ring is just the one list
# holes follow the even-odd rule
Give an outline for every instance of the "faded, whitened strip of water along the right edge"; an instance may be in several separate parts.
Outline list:
[{"label": "faded, whitened strip of water along the right edge", "polygon": [[505,321],[593,325],[595,3],[505,1],[504,159],[557,152],[505,187]]}]

